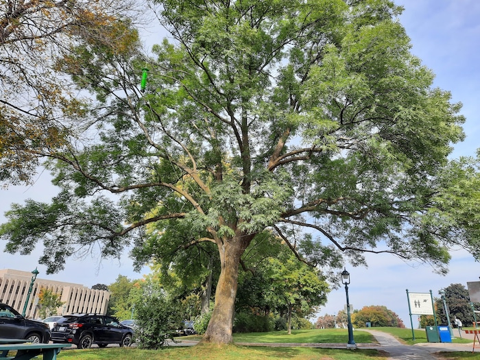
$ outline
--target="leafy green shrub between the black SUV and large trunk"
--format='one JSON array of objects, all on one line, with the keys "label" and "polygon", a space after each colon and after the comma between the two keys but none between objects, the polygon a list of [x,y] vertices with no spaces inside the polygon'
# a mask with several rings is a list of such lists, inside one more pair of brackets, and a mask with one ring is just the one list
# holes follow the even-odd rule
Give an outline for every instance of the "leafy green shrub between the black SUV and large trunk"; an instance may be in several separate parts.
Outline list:
[{"label": "leafy green shrub between the black SUV and large trunk", "polygon": [[135,341],[139,348],[158,349],[182,326],[177,302],[163,295],[149,296],[135,304]]}]

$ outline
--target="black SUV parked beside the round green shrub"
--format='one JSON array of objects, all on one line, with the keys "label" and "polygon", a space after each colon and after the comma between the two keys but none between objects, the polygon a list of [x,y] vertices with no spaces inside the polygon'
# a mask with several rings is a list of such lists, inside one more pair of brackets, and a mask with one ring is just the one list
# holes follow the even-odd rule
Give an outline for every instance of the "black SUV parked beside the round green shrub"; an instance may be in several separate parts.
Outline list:
[{"label": "black SUV parked beside the round green shrub", "polygon": [[64,315],[51,330],[51,341],[75,344],[77,348],[100,348],[108,344],[130,346],[133,330],[123,326],[115,317],[97,314]]}]

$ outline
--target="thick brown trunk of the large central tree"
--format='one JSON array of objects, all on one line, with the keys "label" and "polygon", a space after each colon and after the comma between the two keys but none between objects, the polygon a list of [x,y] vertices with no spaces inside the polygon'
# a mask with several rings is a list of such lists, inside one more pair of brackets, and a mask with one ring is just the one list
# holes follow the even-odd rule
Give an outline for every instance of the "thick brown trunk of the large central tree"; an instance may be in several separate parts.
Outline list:
[{"label": "thick brown trunk of the large central tree", "polygon": [[215,291],[215,307],[200,344],[230,344],[232,342],[239,263],[248,243],[250,243],[250,239],[239,236],[219,244],[221,272]]}]

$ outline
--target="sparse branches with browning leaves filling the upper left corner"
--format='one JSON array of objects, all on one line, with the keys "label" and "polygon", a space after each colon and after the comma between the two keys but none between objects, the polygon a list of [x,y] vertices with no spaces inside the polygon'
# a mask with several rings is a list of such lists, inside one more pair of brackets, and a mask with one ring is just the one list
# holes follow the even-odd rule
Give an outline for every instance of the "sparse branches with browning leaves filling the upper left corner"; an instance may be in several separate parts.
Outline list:
[{"label": "sparse branches with browning leaves filling the upper left corner", "polygon": [[104,39],[127,13],[136,13],[130,0],[0,1],[0,182],[29,182],[43,156],[67,144],[86,99],[58,60]]}]

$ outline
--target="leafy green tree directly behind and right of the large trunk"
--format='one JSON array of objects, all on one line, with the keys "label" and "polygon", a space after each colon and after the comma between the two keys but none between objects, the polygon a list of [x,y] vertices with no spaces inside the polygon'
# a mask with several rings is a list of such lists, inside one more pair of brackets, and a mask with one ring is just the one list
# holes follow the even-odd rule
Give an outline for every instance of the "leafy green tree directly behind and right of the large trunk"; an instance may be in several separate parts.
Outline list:
[{"label": "leafy green tree directly behind and right of the large trunk", "polygon": [[314,313],[328,291],[322,274],[300,263],[282,239],[265,232],[242,257],[234,330],[267,331],[272,321],[283,330],[280,323],[285,320],[290,333],[292,320],[298,325]]}]

